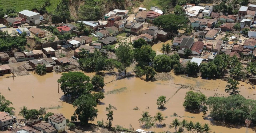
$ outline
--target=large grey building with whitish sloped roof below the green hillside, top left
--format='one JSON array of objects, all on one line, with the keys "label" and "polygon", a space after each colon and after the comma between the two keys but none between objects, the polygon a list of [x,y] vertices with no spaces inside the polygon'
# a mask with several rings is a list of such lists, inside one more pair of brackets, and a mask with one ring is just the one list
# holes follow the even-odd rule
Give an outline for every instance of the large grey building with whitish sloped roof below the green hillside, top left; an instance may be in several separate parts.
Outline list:
[{"label": "large grey building with whitish sloped roof below the green hillside, top left", "polygon": [[19,12],[19,17],[26,19],[26,22],[31,24],[39,24],[40,14],[29,10]]}]

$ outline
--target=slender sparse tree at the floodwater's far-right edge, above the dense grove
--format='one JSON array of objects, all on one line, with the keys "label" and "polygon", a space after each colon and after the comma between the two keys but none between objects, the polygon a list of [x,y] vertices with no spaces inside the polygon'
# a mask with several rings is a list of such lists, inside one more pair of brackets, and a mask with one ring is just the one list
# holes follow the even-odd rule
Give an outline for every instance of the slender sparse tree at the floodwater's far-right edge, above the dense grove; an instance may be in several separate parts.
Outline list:
[{"label": "slender sparse tree at the floodwater's far-right edge, above the dense grove", "polygon": [[239,85],[239,82],[237,80],[233,80],[232,78],[229,78],[227,81],[228,85],[226,85],[225,92],[229,93],[230,95],[236,95],[239,94],[240,91],[238,91],[237,85]]}]

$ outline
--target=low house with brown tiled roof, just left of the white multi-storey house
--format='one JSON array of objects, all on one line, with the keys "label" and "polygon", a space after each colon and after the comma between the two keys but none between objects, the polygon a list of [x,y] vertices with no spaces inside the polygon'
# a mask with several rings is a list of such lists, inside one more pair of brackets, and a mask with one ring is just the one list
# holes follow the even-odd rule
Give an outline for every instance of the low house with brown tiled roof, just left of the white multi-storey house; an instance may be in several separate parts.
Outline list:
[{"label": "low house with brown tiled roof, just left of the white multi-storey house", "polygon": [[33,125],[33,128],[43,131],[43,133],[55,133],[56,129],[48,122],[40,122]]}]

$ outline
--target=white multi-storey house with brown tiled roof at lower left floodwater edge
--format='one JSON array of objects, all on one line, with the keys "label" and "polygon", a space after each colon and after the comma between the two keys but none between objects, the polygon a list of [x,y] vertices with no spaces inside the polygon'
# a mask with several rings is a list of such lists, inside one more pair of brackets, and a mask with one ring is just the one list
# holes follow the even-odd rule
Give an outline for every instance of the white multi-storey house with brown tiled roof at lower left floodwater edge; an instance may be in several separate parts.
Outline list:
[{"label": "white multi-storey house with brown tiled roof at lower left floodwater edge", "polygon": [[66,118],[62,114],[54,114],[48,117],[48,123],[54,125],[57,132],[63,132],[66,128]]}]

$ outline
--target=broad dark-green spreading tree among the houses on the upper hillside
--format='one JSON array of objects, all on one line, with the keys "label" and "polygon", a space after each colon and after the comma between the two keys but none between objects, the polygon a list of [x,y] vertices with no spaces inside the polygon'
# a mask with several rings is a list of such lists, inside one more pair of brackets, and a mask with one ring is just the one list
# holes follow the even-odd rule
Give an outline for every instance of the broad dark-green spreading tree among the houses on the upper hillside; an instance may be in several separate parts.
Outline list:
[{"label": "broad dark-green spreading tree among the houses on the upper hillside", "polygon": [[161,15],[153,21],[155,26],[161,27],[164,31],[171,33],[178,33],[178,29],[183,29],[187,26],[186,23],[187,19],[185,16],[175,14]]}]

